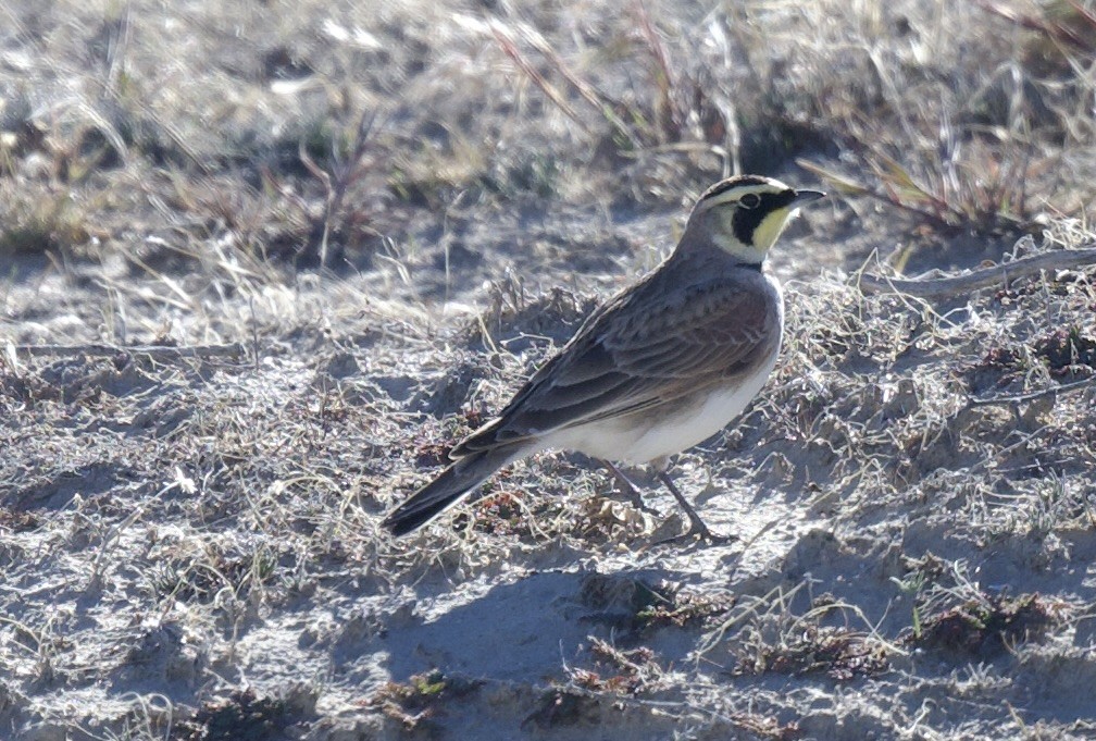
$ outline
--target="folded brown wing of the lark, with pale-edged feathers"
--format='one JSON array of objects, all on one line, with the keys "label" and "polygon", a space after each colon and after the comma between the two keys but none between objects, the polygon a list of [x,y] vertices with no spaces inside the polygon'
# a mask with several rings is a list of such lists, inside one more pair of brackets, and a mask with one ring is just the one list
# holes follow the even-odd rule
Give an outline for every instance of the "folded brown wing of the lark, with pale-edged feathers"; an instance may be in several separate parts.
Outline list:
[{"label": "folded brown wing of the lark, with pale-edged feathers", "polygon": [[756,367],[779,331],[779,305],[762,281],[619,296],[450,455],[631,414]]}]

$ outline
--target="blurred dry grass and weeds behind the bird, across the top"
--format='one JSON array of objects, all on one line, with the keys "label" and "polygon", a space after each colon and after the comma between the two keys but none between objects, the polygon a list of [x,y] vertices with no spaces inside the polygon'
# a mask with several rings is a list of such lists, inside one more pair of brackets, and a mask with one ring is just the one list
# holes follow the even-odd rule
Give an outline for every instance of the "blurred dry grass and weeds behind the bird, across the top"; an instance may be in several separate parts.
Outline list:
[{"label": "blurred dry grass and weeds behind the bird, across the top", "polygon": [[439,298],[461,289],[454,262],[487,252],[476,235],[680,214],[744,171],[838,194],[812,261],[968,266],[1083,224],[1096,175],[1096,13],[1077,0],[60,1],[0,18],[0,254],[55,265],[119,256],[239,289],[272,264],[285,280],[442,261],[444,285],[420,285]]}]

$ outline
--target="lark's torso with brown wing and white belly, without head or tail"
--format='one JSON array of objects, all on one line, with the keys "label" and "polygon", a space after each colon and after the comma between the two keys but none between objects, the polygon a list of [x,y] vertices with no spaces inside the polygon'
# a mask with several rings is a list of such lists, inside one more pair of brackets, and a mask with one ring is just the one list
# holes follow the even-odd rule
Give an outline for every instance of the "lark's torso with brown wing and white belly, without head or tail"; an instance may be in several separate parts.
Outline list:
[{"label": "lark's torso with brown wing and white belly, without head or tail", "polygon": [[[781,320],[779,287],[760,270],[716,250],[674,255],[598,309],[454,455],[523,440],[636,463],[676,453],[724,426],[756,394],[760,384],[743,381],[764,383]],[[659,426],[692,432],[659,435]],[[663,449],[678,438],[693,442]]]}]

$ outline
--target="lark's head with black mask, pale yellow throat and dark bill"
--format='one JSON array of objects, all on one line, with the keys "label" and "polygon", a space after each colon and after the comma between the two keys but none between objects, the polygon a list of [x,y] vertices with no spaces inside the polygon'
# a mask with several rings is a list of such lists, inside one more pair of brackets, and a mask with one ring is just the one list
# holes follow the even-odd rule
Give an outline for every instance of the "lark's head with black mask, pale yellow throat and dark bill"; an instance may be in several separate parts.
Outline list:
[{"label": "lark's head with black mask, pale yellow throat and dark bill", "polygon": [[688,217],[683,246],[715,244],[743,264],[760,265],[799,206],[821,198],[819,191],[797,191],[772,178],[737,175],[700,196]]}]

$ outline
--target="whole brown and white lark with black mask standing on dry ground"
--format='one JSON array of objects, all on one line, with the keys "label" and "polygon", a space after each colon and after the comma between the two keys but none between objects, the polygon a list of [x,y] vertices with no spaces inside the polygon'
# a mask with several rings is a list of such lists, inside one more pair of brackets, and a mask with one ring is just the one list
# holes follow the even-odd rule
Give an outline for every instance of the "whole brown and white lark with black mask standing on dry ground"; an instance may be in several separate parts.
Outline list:
[{"label": "whole brown and white lark with black mask standing on dry ground", "polygon": [[784,329],[780,286],[765,274],[765,255],[798,206],[823,195],[757,175],[709,187],[673,253],[595,310],[384,524],[410,533],[499,468],[556,448],[652,465],[688,516],[681,537],[716,539],[666,475],[667,463],[722,430],[765,384]]}]

